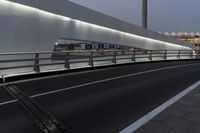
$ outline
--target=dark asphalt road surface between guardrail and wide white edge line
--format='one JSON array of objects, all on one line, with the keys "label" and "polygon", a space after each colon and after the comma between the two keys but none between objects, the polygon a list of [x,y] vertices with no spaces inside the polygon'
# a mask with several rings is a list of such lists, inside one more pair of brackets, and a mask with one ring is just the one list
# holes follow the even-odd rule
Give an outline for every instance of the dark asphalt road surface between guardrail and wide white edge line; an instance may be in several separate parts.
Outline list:
[{"label": "dark asphalt road surface between guardrail and wide white edge line", "polygon": [[[132,64],[10,83],[73,133],[117,133],[200,79],[200,61]],[[0,132],[40,133],[0,86]]]}]

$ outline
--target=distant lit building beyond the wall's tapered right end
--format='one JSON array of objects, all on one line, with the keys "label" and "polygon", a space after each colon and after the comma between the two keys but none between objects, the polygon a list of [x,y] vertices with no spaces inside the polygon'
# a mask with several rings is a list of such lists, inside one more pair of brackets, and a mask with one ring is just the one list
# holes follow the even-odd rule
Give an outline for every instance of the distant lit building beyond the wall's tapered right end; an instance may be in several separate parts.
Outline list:
[{"label": "distant lit building beyond the wall's tapered right end", "polygon": [[184,41],[187,41],[197,47],[200,50],[200,32],[165,32],[167,36],[175,37]]}]

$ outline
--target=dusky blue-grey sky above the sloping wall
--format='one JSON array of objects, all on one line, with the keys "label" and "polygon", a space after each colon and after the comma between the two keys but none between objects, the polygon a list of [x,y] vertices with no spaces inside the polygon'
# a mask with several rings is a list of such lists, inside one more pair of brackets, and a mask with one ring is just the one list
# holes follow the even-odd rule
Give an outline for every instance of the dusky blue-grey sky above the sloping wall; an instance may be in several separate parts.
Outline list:
[{"label": "dusky blue-grey sky above the sloping wall", "polygon": [[[71,0],[141,26],[142,0]],[[199,32],[200,0],[148,0],[148,27],[157,32]]]}]

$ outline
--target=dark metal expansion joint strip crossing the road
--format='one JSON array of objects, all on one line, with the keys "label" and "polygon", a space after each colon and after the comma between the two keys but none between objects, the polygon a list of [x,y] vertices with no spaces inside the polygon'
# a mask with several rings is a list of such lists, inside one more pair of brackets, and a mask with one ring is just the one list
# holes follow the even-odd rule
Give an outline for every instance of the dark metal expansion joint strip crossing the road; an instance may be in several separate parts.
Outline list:
[{"label": "dark metal expansion joint strip crossing the road", "polygon": [[4,86],[4,88],[13,98],[18,99],[19,104],[44,133],[72,133],[70,129],[66,128],[61,122],[58,122],[52,114],[27,96],[18,87],[10,85]]}]

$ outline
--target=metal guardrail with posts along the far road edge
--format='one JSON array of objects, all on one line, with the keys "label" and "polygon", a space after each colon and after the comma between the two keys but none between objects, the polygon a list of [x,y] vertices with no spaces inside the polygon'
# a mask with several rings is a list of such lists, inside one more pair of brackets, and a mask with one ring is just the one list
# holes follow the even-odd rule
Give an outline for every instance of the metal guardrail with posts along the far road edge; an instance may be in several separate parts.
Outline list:
[{"label": "metal guardrail with posts along the far road edge", "polygon": [[7,76],[128,62],[199,59],[198,51],[62,51],[0,53],[0,75]]}]

